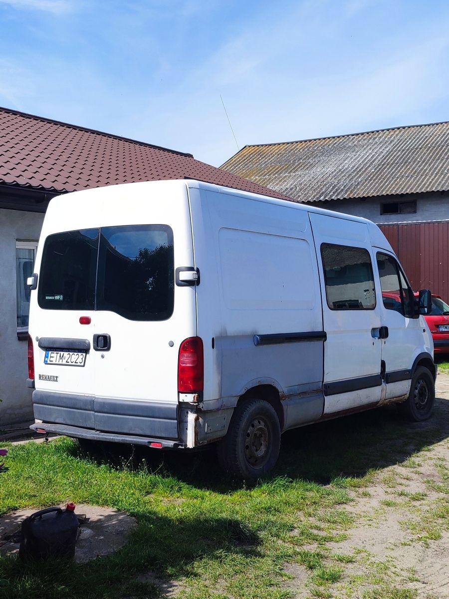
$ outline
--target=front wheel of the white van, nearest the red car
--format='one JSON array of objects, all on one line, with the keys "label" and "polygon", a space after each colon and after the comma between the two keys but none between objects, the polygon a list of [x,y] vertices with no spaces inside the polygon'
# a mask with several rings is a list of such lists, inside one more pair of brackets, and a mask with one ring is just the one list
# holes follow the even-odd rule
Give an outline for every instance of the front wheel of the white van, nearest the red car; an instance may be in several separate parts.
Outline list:
[{"label": "front wheel of the white van, nearest the red car", "polygon": [[411,422],[423,422],[430,418],[435,402],[435,380],[424,366],[418,366],[412,376],[408,398],[398,404],[399,412]]}]

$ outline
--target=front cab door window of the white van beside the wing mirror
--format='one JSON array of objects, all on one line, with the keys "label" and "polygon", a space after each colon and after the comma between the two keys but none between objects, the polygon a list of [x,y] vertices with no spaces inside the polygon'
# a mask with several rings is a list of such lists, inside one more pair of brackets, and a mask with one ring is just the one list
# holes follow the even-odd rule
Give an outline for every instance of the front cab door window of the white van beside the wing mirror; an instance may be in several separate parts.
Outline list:
[{"label": "front cab door window of the white van beside the wing mirror", "polygon": [[414,314],[414,295],[406,282],[398,262],[387,254],[377,254],[382,300],[387,310],[395,310],[404,316]]}]

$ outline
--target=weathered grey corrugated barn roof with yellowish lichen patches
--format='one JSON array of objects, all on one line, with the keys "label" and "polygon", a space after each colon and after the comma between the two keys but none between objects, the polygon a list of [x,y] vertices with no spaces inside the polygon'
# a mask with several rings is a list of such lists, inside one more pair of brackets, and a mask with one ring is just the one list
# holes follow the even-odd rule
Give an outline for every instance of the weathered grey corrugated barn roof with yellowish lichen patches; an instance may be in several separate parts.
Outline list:
[{"label": "weathered grey corrugated barn roof with yellowish lichen patches", "polygon": [[223,166],[300,202],[449,190],[449,122],[245,146]]}]

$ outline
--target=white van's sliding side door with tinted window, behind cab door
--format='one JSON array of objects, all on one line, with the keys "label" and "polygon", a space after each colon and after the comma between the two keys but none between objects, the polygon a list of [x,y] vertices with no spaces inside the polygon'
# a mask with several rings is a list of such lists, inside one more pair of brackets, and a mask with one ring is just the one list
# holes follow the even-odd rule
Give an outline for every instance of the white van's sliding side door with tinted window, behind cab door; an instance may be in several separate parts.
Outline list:
[{"label": "white van's sliding side door with tinted window, behind cab door", "polygon": [[324,331],[324,414],[381,400],[381,306],[365,223],[310,213]]}]

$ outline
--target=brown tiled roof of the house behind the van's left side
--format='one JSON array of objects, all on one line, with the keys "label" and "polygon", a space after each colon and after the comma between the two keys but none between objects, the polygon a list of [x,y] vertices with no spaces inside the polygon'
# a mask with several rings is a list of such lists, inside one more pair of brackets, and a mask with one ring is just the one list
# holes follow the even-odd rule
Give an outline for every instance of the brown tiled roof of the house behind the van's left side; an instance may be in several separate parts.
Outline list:
[{"label": "brown tiled roof of the house behind the van's left side", "polygon": [[184,178],[285,197],[191,154],[0,108],[0,184],[60,193]]}]

